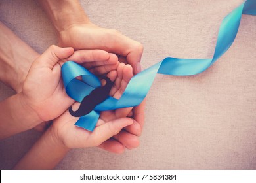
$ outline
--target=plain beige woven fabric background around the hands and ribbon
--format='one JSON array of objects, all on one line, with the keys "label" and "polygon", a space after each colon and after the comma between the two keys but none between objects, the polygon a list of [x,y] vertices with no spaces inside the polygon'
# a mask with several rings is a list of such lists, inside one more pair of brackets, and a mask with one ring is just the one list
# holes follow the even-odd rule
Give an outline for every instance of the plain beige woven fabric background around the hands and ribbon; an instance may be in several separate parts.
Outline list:
[{"label": "plain beige woven fabric background around the hands and ribbon", "polygon": [[[211,58],[221,20],[240,3],[81,0],[92,22],[144,44],[144,69],[166,56]],[[56,44],[36,1],[1,1],[0,16],[37,52]],[[243,16],[234,44],[207,71],[158,75],[148,94],[139,148],[121,155],[75,149],[56,169],[256,169],[255,39],[256,17]],[[12,94],[0,83],[1,100]],[[0,141],[0,168],[11,169],[40,135],[31,130]]]}]

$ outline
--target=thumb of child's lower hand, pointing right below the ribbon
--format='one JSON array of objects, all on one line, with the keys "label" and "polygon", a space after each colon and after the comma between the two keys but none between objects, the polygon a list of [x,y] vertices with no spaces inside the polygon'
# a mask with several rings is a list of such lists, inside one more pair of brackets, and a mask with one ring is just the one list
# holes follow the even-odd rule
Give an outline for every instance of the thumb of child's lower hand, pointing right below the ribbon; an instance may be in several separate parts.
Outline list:
[{"label": "thumb of child's lower hand, pointing right below the ribbon", "polygon": [[95,142],[93,146],[99,146],[104,141],[110,139],[114,135],[117,135],[123,127],[131,124],[133,124],[132,118],[118,118],[96,127],[95,131],[91,134],[91,138],[93,142]]}]

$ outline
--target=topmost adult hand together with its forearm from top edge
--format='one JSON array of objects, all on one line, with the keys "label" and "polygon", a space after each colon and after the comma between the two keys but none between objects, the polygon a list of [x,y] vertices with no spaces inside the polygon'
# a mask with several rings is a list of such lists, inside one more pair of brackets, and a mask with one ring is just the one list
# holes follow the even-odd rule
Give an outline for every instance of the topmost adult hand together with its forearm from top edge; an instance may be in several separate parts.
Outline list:
[{"label": "topmost adult hand together with its forearm from top edge", "polygon": [[143,46],[114,29],[104,29],[90,22],[79,0],[39,0],[53,23],[60,46],[75,50],[100,49],[121,56],[140,72]]}]

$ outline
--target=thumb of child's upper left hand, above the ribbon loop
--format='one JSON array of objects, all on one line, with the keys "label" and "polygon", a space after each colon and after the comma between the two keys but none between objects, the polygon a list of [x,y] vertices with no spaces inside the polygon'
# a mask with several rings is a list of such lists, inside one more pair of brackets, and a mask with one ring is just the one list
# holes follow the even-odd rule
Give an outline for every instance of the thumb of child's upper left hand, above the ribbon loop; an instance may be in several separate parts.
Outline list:
[{"label": "thumb of child's upper left hand, above the ribbon loop", "polygon": [[38,62],[41,66],[53,69],[54,65],[60,61],[60,59],[68,58],[74,52],[73,48],[60,48],[58,46],[50,46],[41,56],[38,58]]}]

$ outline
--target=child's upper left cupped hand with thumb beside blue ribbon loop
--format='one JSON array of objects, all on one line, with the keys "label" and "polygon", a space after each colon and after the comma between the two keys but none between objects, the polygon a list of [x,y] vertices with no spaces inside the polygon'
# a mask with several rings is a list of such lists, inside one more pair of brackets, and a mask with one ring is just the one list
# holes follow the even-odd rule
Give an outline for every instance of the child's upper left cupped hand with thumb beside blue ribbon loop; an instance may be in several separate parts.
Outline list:
[{"label": "child's upper left cupped hand with thumb beside blue ribbon loop", "polygon": [[[57,118],[74,103],[64,89],[61,65],[68,57],[72,55],[75,58],[77,54],[83,58],[85,64],[91,65],[89,69],[99,74],[117,67],[117,57],[103,50],[80,50],[74,53],[73,48],[50,46],[32,63],[22,89],[24,101],[36,112],[41,121]],[[106,63],[110,65],[107,68]]]}]

